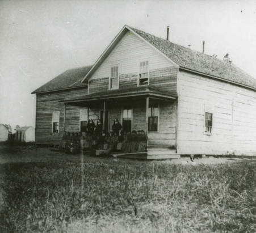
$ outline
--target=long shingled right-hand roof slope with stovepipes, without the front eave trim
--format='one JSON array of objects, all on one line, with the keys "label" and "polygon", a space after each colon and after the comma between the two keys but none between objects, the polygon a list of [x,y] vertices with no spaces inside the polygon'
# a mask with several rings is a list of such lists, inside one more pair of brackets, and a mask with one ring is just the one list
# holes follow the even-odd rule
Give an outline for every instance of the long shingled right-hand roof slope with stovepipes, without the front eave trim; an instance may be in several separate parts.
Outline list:
[{"label": "long shingled right-hand roof slope with stovepipes, without the front eave trim", "polygon": [[199,73],[226,79],[226,81],[256,88],[256,79],[232,63],[227,63],[182,45],[171,43],[170,41],[150,35],[137,28],[128,27],[128,29],[129,28],[155,46],[160,52],[169,57],[171,61],[177,63],[181,69],[185,68],[191,71],[198,71]]}]

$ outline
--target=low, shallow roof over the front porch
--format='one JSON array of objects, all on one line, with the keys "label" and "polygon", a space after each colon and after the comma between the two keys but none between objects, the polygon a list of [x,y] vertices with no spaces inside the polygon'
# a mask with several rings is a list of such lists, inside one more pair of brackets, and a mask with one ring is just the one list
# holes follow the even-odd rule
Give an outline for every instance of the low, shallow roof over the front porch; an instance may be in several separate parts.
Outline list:
[{"label": "low, shallow roof over the front porch", "polygon": [[66,98],[61,100],[61,103],[65,103],[68,105],[78,105],[79,103],[86,103],[90,101],[97,100],[115,100],[120,98],[138,98],[138,97],[151,97],[153,99],[161,99],[161,100],[175,100],[177,96],[167,94],[166,92],[162,92],[157,88],[150,86],[142,86],[135,87],[125,90],[109,90],[103,92],[97,92],[89,95],[79,96],[77,98]]}]

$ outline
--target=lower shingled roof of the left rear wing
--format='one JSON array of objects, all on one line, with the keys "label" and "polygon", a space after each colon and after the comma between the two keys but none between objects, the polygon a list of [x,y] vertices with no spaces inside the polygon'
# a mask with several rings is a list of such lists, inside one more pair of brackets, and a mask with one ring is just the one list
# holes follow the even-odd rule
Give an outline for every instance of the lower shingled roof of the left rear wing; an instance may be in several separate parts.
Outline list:
[{"label": "lower shingled roof of the left rear wing", "polygon": [[45,83],[43,86],[37,88],[32,92],[32,94],[86,86],[86,84],[82,83],[81,81],[90,69],[91,66],[83,66],[66,70],[64,73],[53,78],[48,83]]}]

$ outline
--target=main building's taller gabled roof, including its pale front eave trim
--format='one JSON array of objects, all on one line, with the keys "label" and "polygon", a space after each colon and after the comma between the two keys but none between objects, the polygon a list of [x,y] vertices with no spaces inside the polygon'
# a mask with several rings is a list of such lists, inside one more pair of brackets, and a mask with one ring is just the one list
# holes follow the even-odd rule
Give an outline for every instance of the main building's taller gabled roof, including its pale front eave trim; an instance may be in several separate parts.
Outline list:
[{"label": "main building's taller gabled roof, including its pale front eave trim", "polygon": [[97,67],[104,61],[104,59],[127,31],[131,31],[140,37],[140,39],[151,45],[154,49],[161,53],[162,56],[169,59],[170,62],[179,67],[181,70],[208,75],[212,78],[222,79],[227,82],[256,89],[256,79],[231,63],[227,63],[207,54],[191,50],[182,45],[171,43],[170,41],[150,35],[149,33],[129,26],[124,26],[123,29],[121,29],[104,53],[91,67],[90,71],[86,74],[85,78],[83,78],[82,82],[89,80],[91,74],[94,73]]}]

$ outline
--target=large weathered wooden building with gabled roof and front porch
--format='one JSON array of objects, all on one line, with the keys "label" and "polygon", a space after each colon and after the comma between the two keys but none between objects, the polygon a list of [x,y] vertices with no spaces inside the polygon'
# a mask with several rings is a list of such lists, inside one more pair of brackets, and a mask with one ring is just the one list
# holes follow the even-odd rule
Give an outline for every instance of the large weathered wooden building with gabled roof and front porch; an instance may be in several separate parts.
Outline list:
[{"label": "large weathered wooden building with gabled roof and front porch", "polygon": [[144,130],[147,158],[256,155],[256,80],[229,61],[124,26],[93,66],[36,94],[36,142],[58,143],[89,118]]}]

